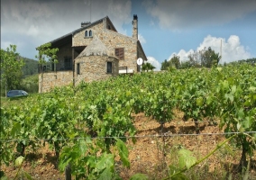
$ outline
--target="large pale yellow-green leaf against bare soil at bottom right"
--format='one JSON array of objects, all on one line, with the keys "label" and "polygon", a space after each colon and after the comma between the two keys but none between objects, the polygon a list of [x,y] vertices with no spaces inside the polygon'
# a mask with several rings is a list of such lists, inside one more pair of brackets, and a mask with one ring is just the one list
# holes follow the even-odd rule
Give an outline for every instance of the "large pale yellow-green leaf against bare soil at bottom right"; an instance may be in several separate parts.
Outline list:
[{"label": "large pale yellow-green leaf against bare soil at bottom right", "polygon": [[193,157],[192,154],[190,150],[184,148],[178,151],[179,168],[187,167],[189,169],[190,166],[193,166],[197,162],[197,158]]}]

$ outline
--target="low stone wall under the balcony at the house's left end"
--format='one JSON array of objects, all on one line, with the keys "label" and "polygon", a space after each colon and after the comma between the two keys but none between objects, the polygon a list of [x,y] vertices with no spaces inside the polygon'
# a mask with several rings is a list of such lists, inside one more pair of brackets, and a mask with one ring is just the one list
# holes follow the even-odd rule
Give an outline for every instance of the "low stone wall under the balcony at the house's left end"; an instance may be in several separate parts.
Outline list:
[{"label": "low stone wall under the balcony at the house's left end", "polygon": [[[57,71],[43,73],[43,78],[39,74],[39,93],[50,91],[55,86],[70,85],[73,83],[73,71]],[[42,80],[42,92],[41,92]]]}]

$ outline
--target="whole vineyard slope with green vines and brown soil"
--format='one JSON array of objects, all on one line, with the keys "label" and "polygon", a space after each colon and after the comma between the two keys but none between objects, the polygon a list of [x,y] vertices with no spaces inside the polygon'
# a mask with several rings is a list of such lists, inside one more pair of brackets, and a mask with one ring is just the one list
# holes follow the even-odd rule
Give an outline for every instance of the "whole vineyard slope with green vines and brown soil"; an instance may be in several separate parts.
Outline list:
[{"label": "whole vineyard slope with green vines and brown soil", "polygon": [[41,149],[54,152],[62,179],[256,177],[249,64],[119,76],[14,102],[1,104],[3,179],[37,179],[24,165]]}]

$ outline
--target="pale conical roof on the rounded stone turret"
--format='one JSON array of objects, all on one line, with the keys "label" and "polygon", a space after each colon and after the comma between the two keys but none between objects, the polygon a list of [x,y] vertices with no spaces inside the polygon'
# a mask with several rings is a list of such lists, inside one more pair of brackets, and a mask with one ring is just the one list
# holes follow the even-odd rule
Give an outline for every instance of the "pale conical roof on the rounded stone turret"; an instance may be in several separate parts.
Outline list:
[{"label": "pale conical roof on the rounded stone turret", "polygon": [[79,55],[78,58],[87,56],[107,56],[107,49],[104,43],[99,40],[96,36],[91,43],[85,48]]}]

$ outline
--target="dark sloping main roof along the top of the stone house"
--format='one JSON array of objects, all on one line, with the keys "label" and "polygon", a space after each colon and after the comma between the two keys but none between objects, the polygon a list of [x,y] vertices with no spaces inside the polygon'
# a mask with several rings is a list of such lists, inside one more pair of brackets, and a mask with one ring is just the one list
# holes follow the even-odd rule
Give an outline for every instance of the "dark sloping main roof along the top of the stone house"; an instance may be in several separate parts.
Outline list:
[{"label": "dark sloping main roof along the top of the stone house", "polygon": [[[113,23],[111,22],[111,20],[109,19],[109,17],[108,17],[108,16],[105,16],[104,18],[101,18],[101,19],[97,20],[97,21],[94,22],[94,23],[88,23],[88,24],[87,24],[86,26],[84,26],[84,27],[80,27],[80,28],[78,28],[77,30],[71,31],[71,32],[69,32],[68,34],[66,34],[66,35],[64,35],[64,36],[61,36],[61,37],[59,37],[59,38],[57,38],[57,39],[55,39],[55,40],[51,40],[51,41],[50,41],[51,47],[52,47],[52,48],[57,48],[57,47],[59,47],[60,44],[64,44],[64,43],[67,43],[67,42],[72,42],[72,36],[73,36],[74,33],[78,32],[78,31],[85,30],[85,29],[87,29],[87,28],[89,28],[89,27],[95,25],[96,23],[102,22],[104,19],[107,19],[107,20],[113,25]],[[113,25],[113,27],[114,27],[114,25]],[[115,28],[114,28],[114,31],[116,31]]]}]

